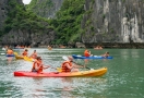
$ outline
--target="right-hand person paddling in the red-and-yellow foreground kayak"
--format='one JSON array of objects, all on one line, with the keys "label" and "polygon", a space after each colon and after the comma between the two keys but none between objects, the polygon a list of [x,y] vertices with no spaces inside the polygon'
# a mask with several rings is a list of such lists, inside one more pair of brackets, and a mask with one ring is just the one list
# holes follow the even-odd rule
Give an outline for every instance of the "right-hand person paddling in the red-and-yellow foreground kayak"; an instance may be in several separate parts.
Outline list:
[{"label": "right-hand person paddling in the red-and-yellow foreground kayak", "polygon": [[68,59],[69,60],[62,62],[61,72],[79,72],[79,68],[85,68],[84,65],[74,63],[72,57],[68,57]]}]

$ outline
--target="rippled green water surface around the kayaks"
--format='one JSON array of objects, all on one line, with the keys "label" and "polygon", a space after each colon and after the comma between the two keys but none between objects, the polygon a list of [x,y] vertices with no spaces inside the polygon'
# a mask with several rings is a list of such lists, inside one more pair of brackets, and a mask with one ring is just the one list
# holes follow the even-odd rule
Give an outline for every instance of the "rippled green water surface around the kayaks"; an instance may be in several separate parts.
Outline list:
[{"label": "rippled green water surface around the kayaks", "polygon": [[[32,53],[34,49],[29,49]],[[60,66],[62,56],[82,54],[84,49],[36,48],[44,63]],[[108,68],[101,77],[14,77],[14,71],[29,71],[32,62],[0,56],[0,98],[144,98],[143,49],[89,49],[99,56],[106,51],[112,60],[89,60],[88,68]],[[16,50],[22,52],[22,50]],[[0,51],[2,53],[4,51]],[[83,60],[75,60],[84,64]],[[81,69],[85,70],[85,69]],[[56,71],[47,69],[45,72]]]}]

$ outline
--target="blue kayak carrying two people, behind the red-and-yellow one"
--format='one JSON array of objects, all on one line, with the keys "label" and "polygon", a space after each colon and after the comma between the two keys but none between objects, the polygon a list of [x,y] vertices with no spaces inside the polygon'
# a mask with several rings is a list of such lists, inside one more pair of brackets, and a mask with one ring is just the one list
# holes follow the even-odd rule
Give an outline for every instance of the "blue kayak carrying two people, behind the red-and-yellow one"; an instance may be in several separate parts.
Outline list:
[{"label": "blue kayak carrying two people, behind the red-and-yellow one", "polygon": [[72,57],[74,59],[113,59],[113,57],[103,57],[103,56],[84,57],[84,56],[72,54]]}]

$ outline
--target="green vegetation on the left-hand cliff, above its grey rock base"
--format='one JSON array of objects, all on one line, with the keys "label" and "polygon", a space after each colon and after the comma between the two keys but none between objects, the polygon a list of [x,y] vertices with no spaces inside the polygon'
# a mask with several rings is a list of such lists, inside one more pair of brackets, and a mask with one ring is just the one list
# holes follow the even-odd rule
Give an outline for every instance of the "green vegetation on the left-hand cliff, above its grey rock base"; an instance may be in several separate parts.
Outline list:
[{"label": "green vegetation on the left-hand cliff, above its grey rock base", "polygon": [[[11,29],[27,29],[31,32],[49,29],[48,20],[37,16],[31,11],[26,11],[23,4],[17,4],[15,0],[10,0],[8,9],[8,17],[3,27],[3,33]],[[46,22],[47,25],[43,25]],[[53,29],[52,26],[50,28]]]}]

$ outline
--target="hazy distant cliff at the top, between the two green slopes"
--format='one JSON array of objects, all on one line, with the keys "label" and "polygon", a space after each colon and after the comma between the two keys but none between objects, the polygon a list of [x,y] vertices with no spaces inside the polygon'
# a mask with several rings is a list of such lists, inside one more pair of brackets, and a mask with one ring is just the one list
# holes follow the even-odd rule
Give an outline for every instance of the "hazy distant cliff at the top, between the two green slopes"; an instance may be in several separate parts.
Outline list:
[{"label": "hazy distant cliff at the top, between the two green slopes", "polygon": [[50,19],[55,17],[62,2],[63,0],[33,0],[28,8],[37,15]]}]

